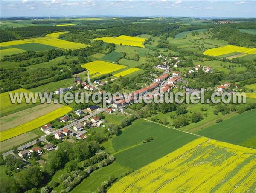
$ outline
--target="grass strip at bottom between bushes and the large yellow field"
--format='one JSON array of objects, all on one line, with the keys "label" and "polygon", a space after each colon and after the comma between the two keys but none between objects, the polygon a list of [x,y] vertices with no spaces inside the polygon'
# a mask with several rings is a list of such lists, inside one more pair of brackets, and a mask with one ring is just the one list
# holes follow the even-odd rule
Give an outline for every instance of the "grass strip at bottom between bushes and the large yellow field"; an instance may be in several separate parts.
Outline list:
[{"label": "grass strip at bottom between bushes and the large yellow field", "polygon": [[91,193],[96,192],[100,184],[108,180],[109,176],[114,175],[116,178],[121,177],[131,169],[124,167],[116,162],[106,167],[99,168],[84,179],[78,186],[76,186],[71,193]]}]

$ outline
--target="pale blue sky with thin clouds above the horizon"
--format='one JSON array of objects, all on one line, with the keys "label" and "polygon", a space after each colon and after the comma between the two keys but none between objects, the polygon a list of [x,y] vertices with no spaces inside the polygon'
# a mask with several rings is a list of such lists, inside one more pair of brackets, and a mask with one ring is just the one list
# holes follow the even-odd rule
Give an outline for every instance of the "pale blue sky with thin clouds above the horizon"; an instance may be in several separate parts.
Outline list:
[{"label": "pale blue sky with thin clouds above the horizon", "polygon": [[255,0],[1,0],[1,17],[256,17]]}]

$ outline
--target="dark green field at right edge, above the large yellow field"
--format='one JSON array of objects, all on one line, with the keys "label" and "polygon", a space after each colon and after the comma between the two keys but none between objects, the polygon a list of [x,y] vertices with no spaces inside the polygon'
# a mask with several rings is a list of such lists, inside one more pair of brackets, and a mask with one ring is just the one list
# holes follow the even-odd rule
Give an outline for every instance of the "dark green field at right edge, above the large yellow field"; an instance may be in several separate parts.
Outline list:
[{"label": "dark green field at right edge, above the large yellow field", "polygon": [[[256,136],[255,117],[256,110],[247,111],[213,124],[197,134],[236,145],[244,145],[248,140],[254,140]],[[250,148],[256,148],[256,144]]]}]

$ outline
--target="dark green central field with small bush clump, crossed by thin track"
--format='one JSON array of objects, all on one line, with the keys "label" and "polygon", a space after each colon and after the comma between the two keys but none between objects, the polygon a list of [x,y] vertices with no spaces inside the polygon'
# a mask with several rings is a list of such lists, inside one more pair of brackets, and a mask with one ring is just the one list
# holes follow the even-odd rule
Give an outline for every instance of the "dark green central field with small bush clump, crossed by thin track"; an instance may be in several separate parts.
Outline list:
[{"label": "dark green central field with small bush clump, crossed by thin track", "polygon": [[[143,143],[152,136],[154,140]],[[112,140],[116,162],[138,169],[180,148],[197,136],[139,119]]]}]

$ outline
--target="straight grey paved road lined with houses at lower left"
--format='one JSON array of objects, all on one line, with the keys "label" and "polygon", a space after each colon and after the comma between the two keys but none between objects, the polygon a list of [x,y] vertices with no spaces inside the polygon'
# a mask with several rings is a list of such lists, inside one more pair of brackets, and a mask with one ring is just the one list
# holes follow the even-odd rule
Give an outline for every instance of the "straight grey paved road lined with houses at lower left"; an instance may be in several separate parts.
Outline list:
[{"label": "straight grey paved road lined with houses at lower left", "polygon": [[[78,121],[75,121],[75,122],[73,122],[73,123],[70,123],[69,125],[66,125],[66,126],[64,126],[63,128],[60,128],[60,129],[58,129],[58,130],[56,130],[56,131],[52,131],[49,135],[51,135],[51,134],[54,135],[54,134],[57,133],[58,131],[61,131],[61,130],[65,129],[65,128],[70,128],[70,127],[76,125],[78,122],[83,122],[83,121],[85,121],[86,119],[88,119],[88,118],[90,118],[90,117],[92,117],[92,116],[95,116],[96,114],[102,113],[103,111],[105,111],[105,108],[98,109],[98,111],[95,111],[94,113],[92,113],[92,114],[90,114],[90,115],[84,116],[83,118],[79,119]],[[47,135],[41,136],[39,139],[36,139],[36,140],[33,140],[33,141],[29,142],[29,143],[26,143],[26,144],[24,144],[24,145],[21,145],[21,146],[18,147],[17,149],[18,149],[18,150],[23,150],[24,148],[28,148],[29,146],[35,145],[38,140],[44,141],[46,136],[47,136]],[[7,155],[9,155],[9,154],[12,153],[12,152],[13,152],[13,150],[7,151],[6,153],[3,153],[3,156],[7,156]]]}]

